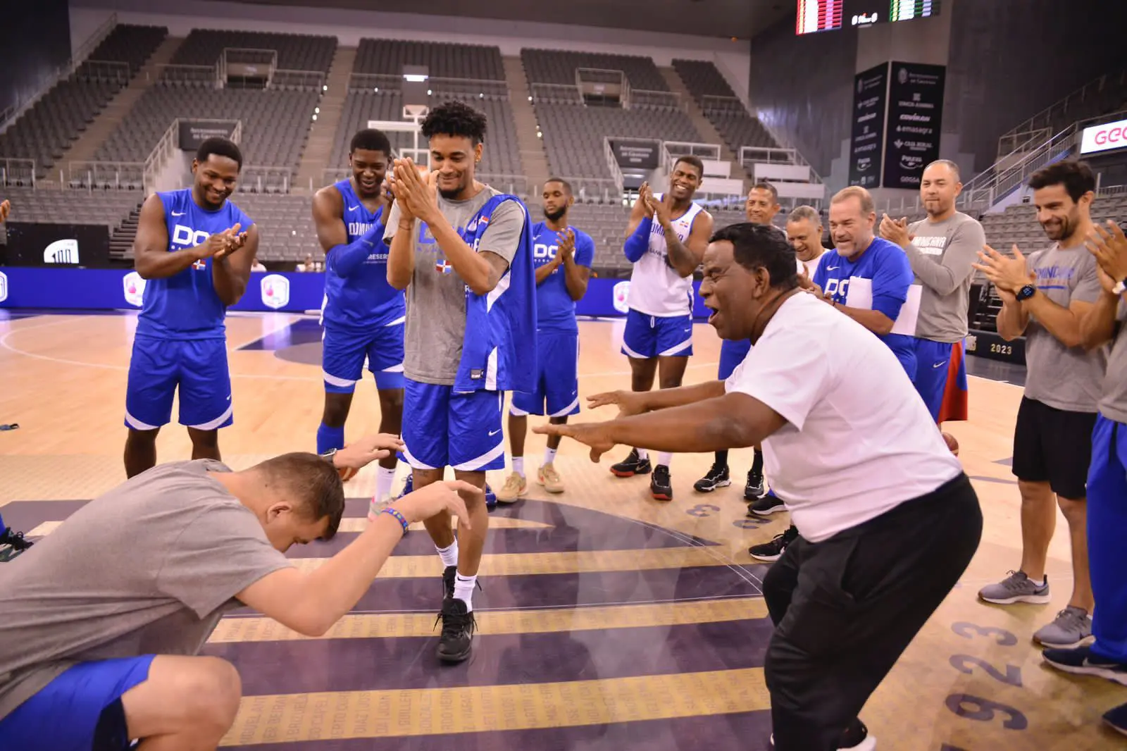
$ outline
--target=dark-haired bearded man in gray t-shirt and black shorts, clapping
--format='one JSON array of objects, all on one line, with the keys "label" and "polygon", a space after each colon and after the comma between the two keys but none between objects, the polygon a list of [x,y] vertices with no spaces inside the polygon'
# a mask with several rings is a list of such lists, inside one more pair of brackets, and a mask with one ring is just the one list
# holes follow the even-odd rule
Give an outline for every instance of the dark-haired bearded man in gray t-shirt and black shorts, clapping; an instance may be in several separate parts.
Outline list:
[{"label": "dark-haired bearded man in gray t-shirt and black shorts, clapping", "polygon": [[1084,247],[1095,178],[1084,162],[1065,160],[1033,174],[1029,187],[1037,219],[1055,244],[1028,258],[1017,247],[1013,257],[987,248],[975,264],[1002,299],[997,333],[1006,341],[1026,336],[1026,392],[1013,436],[1021,566],[979,597],[995,604],[1049,601],[1045,563],[1059,504],[1072,538],[1073,592],[1068,607],[1033,638],[1071,647],[1092,633],[1085,484],[1107,365],[1106,350],[1085,350],[1082,336],[1082,321],[1100,295],[1095,258]]}]

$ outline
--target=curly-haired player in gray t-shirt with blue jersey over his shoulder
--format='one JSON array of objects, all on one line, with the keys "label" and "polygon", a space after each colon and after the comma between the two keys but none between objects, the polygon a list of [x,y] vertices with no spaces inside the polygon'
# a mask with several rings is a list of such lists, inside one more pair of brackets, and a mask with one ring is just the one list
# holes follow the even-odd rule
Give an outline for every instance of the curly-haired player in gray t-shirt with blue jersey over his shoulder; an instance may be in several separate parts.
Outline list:
[{"label": "curly-haired player in gray t-shirt with blue jersey over his shoulder", "polygon": [[[418,491],[442,479],[486,487],[505,466],[505,391],[532,391],[536,363],[521,351],[536,336],[532,224],[520,198],[477,182],[486,117],[462,101],[431,111],[421,132],[429,171],[397,159],[384,240],[388,282],[407,290],[403,450]],[[470,524],[426,522],[442,558],[437,655],[470,656],[473,587],[489,530],[482,494],[464,494]]]}]

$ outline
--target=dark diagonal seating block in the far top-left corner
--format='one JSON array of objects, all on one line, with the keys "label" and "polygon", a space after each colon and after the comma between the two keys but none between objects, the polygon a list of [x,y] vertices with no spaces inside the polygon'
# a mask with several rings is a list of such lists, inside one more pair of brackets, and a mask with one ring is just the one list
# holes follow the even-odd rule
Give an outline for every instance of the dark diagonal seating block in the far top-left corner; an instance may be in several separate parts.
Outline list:
[{"label": "dark diagonal seating block in the far top-left corner", "polygon": [[[114,95],[128,85],[167,33],[163,27],[115,27],[86,63],[0,134],[0,157],[34,159],[37,178],[53,171],[55,161]],[[124,62],[128,72],[119,65],[99,65],[98,61]]]}]

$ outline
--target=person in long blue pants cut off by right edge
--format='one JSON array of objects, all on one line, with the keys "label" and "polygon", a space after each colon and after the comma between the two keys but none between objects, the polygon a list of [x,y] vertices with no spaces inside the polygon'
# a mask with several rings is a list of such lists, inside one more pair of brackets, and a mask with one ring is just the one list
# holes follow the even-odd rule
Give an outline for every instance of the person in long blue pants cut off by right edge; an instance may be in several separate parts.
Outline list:
[{"label": "person in long blue pants cut off by right edge", "polygon": [[[1091,646],[1046,650],[1045,661],[1071,673],[1127,677],[1127,237],[1113,222],[1095,227],[1089,247],[1099,267],[1100,292],[1081,320],[1088,348],[1111,344],[1103,379],[1092,465],[1088,471],[1088,558],[1092,593]],[[1085,250],[1085,253],[1088,253]],[[1127,732],[1127,705],[1103,715]]]}]

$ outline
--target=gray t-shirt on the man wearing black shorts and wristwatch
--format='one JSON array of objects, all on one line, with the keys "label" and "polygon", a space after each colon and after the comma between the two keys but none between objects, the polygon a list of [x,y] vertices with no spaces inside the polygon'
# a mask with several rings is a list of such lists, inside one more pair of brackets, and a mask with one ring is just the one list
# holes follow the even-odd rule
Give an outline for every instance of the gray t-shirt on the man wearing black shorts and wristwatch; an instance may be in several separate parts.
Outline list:
[{"label": "gray t-shirt on the man wearing black shorts and wristwatch", "polygon": [[[1084,246],[1054,244],[1026,258],[1037,275],[1037,289],[1062,308],[1074,301],[1094,302],[1100,294],[1095,258]],[[1107,366],[1107,347],[1088,352],[1066,347],[1030,316],[1026,328],[1026,396],[1068,412],[1097,412],[1100,383]]]}]

